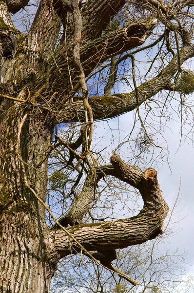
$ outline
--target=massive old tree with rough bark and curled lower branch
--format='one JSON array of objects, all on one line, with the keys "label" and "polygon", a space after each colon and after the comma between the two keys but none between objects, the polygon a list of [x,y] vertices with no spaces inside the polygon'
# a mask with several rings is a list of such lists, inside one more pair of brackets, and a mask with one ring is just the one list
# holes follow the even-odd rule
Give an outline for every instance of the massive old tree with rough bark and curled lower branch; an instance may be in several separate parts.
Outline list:
[{"label": "massive old tree with rough bark and curled lower branch", "polygon": [[[49,292],[59,260],[80,252],[136,285],[112,265],[115,250],[161,234],[168,206],[155,169],[125,164],[116,153],[111,164],[98,162],[91,149],[94,121],[134,110],[151,144],[140,105],[151,109],[155,95],[165,92],[155,100],[162,115],[179,92],[181,111],[191,109],[185,94],[194,78],[185,62],[194,56],[194,1],[40,0],[23,33],[11,16],[27,5],[0,1],[0,292]],[[136,54],[148,56],[152,48],[149,70],[136,81]],[[99,95],[87,81],[96,74],[101,82],[102,70],[106,86]],[[111,95],[122,77],[131,78],[131,92],[128,86],[129,93]],[[64,161],[62,172],[50,173],[53,186],[63,186],[54,199],[63,201],[59,221],[48,208],[51,154]],[[98,183],[107,176],[138,190],[144,206],[137,216],[94,219]]]}]

